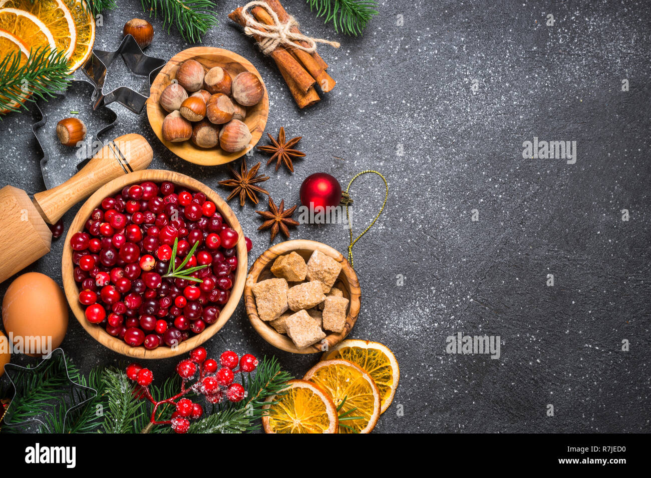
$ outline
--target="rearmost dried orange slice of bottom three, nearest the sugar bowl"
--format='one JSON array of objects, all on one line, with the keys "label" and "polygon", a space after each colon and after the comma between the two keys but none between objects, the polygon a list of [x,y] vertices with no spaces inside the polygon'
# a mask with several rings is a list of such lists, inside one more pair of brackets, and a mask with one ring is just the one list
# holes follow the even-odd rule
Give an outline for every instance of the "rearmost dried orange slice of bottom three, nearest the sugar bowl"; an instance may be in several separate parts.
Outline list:
[{"label": "rearmost dried orange slice of bottom three, nearest the sugar bowl", "polygon": [[400,380],[400,368],[393,352],[386,345],[368,340],[348,339],[325,352],[322,360],[343,358],[359,365],[378,386],[380,391],[380,413],[384,413],[391,402]]}]

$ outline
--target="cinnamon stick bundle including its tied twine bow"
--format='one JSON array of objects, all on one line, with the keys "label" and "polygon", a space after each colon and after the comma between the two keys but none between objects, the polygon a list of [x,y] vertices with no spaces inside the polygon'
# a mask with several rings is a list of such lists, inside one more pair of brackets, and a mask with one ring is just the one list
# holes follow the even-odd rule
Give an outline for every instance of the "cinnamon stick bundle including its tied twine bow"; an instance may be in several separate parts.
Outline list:
[{"label": "cinnamon stick bundle including its tied twine bow", "polygon": [[229,18],[256,40],[262,53],[273,58],[299,108],[320,100],[314,88],[316,83],[322,92],[335,86],[335,80],[326,72],[326,62],[316,52],[316,44],[339,47],[339,43],[302,34],[298,21],[279,0],[251,1],[236,8]]}]

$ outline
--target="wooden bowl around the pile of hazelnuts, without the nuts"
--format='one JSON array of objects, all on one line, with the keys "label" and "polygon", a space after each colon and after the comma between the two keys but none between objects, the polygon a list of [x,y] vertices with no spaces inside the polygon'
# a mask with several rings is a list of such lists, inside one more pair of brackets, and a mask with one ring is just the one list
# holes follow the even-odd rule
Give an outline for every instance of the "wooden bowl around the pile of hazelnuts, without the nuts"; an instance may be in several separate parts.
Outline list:
[{"label": "wooden bowl around the pile of hazelnuts, without the nuts", "polygon": [[[244,118],[244,123],[249,127],[249,131],[251,132],[251,142],[242,151],[227,153],[219,148],[219,146],[215,146],[214,148],[199,148],[199,146],[195,146],[195,144],[190,140],[183,142],[170,142],[163,139],[163,120],[168,113],[158,104],[158,100],[163,90],[165,90],[167,85],[172,83],[173,79],[176,77],[176,70],[178,70],[178,67],[185,60],[190,59],[197,60],[201,63],[206,72],[214,66],[221,66],[227,70],[233,78],[238,73],[251,72],[254,73],[262,82],[262,86],[264,86],[264,96],[262,97],[262,100],[260,100],[257,105],[246,107],[247,113],[246,118]],[[267,92],[267,87],[264,85],[264,81],[262,81],[260,73],[258,73],[258,70],[256,70],[255,66],[253,66],[249,60],[240,57],[237,53],[233,53],[232,51],[223,48],[199,46],[188,48],[174,55],[174,57],[163,66],[163,69],[158,73],[156,79],[154,79],[154,83],[152,83],[150,90],[150,96],[147,100],[147,117],[149,119],[149,124],[152,127],[152,130],[154,130],[156,136],[158,136],[158,139],[178,157],[183,158],[190,163],[195,163],[195,165],[202,166],[215,166],[230,163],[230,161],[242,157],[249,152],[249,150],[253,149],[253,146],[255,146],[260,140],[260,137],[262,137],[262,132],[267,124],[268,116],[269,94]]]}]

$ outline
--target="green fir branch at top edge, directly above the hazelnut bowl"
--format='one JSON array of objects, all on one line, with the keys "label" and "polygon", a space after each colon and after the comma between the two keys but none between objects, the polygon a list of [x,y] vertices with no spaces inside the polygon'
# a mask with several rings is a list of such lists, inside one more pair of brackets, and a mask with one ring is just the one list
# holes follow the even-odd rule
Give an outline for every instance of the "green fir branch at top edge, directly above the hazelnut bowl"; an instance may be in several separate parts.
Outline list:
[{"label": "green fir branch at top edge, directly above the hazelnut bowl", "polygon": [[187,42],[201,42],[201,37],[217,25],[217,5],[212,0],[141,0],[141,4],[150,18],[163,18],[167,33],[174,24]]}]

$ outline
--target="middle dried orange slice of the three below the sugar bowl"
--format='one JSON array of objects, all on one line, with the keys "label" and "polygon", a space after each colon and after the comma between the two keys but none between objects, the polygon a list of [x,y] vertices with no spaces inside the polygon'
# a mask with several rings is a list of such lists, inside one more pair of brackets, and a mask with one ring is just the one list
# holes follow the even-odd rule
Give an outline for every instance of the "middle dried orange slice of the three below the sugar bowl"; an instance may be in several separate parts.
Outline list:
[{"label": "middle dried orange slice of the three below the sugar bowl", "polygon": [[303,379],[330,394],[339,412],[339,433],[370,433],[378,423],[378,387],[353,362],[341,358],[323,360],[309,369]]}]

